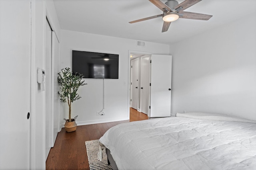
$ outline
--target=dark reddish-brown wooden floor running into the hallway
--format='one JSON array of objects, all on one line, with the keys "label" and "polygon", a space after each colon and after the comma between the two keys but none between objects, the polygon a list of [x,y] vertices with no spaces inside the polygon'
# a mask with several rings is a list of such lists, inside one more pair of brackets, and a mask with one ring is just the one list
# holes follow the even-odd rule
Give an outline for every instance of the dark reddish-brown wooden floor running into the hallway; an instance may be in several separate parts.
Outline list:
[{"label": "dark reddish-brown wooden floor running into the hallway", "polygon": [[119,123],[145,119],[148,119],[146,114],[130,108],[130,120],[77,126],[71,133],[62,128],[46,160],[46,170],[89,170],[85,141],[100,139],[110,127]]}]

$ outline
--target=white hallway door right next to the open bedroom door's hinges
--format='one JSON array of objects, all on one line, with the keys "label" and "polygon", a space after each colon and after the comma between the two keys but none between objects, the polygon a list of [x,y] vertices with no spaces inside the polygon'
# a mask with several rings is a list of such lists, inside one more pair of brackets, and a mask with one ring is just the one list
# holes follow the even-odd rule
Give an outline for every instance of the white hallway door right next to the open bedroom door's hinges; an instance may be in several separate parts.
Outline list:
[{"label": "white hallway door right next to the open bedroom door's hinges", "polygon": [[150,56],[141,57],[140,76],[140,111],[148,115],[149,109],[149,83],[150,83]]}]

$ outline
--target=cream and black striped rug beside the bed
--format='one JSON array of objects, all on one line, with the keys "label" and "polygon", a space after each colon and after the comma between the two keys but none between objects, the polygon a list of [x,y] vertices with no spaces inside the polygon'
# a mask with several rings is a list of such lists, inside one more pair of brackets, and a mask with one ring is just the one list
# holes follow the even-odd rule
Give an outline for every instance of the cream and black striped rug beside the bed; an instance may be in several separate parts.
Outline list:
[{"label": "cream and black striped rug beside the bed", "polygon": [[90,170],[112,170],[111,165],[108,165],[108,159],[105,150],[102,151],[102,160],[98,160],[98,151],[100,147],[98,139],[93,141],[86,141],[85,146]]}]

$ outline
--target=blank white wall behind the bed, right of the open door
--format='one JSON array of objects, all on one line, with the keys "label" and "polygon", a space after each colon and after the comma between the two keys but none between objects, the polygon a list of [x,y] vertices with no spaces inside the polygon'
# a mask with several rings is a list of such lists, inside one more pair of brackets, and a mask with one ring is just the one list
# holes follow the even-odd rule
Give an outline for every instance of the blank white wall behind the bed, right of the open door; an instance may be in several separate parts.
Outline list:
[{"label": "blank white wall behind the bed, right of the open door", "polygon": [[202,111],[256,119],[256,13],[170,45],[172,115]]}]

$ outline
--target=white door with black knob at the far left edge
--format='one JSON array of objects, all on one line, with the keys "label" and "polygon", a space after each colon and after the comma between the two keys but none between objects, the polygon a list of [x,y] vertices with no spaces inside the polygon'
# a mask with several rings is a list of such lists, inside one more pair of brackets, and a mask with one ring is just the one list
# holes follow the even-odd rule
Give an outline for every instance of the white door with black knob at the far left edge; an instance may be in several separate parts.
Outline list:
[{"label": "white door with black knob at the far left edge", "polygon": [[30,169],[30,24],[30,0],[0,0],[1,170]]}]

